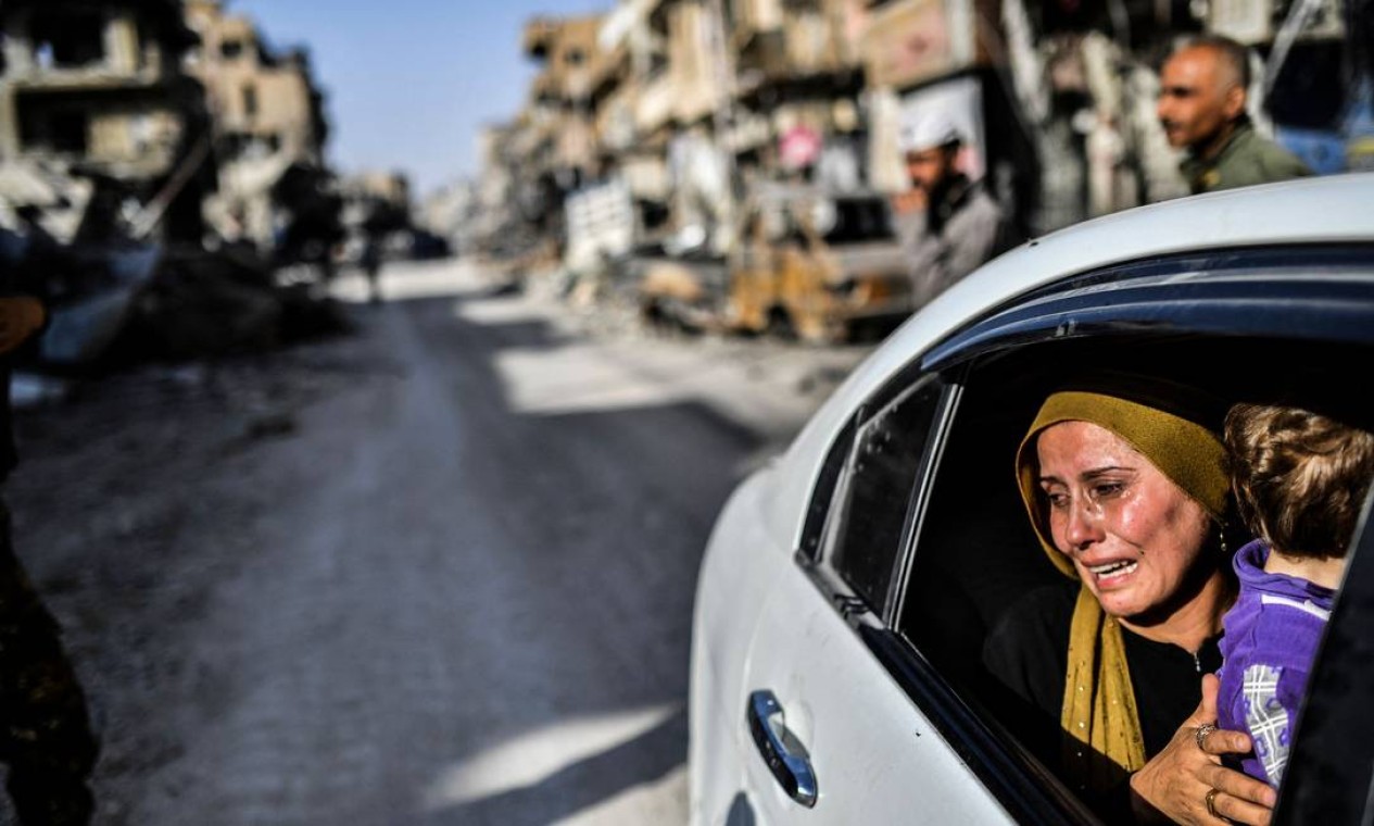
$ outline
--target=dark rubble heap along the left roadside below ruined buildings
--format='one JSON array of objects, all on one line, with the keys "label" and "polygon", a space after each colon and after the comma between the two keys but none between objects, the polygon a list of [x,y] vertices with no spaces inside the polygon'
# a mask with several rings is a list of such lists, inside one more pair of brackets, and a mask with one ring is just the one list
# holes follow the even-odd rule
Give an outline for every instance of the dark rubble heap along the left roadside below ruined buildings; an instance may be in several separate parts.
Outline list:
[{"label": "dark rubble heap along the left roadside below ruined buildings", "polygon": [[[265,352],[316,335],[348,330],[345,315],[323,280],[283,279],[276,264],[250,245],[217,249],[165,241],[136,242],[129,234],[82,241],[100,201],[84,202],[74,221],[71,203],[18,208],[32,177],[0,177],[4,265],[41,294],[48,323],[16,355],[27,371],[89,374],[144,361],[185,361]],[[56,205],[60,203],[60,205]],[[49,227],[55,227],[49,231]],[[66,231],[65,231],[66,230]],[[59,232],[62,236],[59,238]]]}]

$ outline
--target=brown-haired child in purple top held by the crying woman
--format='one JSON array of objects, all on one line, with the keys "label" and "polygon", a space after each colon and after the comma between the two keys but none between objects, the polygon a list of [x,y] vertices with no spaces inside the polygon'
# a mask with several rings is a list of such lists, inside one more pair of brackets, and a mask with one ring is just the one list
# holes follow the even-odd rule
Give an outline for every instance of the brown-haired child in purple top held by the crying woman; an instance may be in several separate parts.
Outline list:
[{"label": "brown-haired child in purple top held by the crying woman", "polygon": [[1217,726],[1249,731],[1241,770],[1278,788],[1308,672],[1374,477],[1374,436],[1294,407],[1237,404],[1226,447],[1241,517]]}]

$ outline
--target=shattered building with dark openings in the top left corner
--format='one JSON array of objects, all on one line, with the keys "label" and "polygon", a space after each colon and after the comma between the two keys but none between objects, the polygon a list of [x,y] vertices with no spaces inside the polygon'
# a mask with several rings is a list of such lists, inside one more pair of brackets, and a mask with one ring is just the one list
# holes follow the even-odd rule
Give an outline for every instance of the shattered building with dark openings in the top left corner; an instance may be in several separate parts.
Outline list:
[{"label": "shattered building with dark openings in the top left corner", "polygon": [[[5,0],[0,5],[0,159],[32,180],[66,228],[195,241],[214,187],[205,95],[181,70],[196,38],[177,0]],[[23,197],[19,194],[19,197]],[[15,198],[8,198],[15,206]]]}]

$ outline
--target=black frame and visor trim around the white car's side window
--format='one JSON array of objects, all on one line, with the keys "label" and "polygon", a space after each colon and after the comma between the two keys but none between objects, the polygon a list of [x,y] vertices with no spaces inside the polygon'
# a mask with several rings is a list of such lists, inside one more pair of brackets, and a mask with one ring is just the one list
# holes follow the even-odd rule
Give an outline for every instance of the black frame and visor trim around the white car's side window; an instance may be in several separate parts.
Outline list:
[{"label": "black frame and visor trim around the white car's side window", "polygon": [[[1318,264],[1312,263],[1314,256],[1319,258]],[[868,400],[859,405],[853,419],[846,423],[849,427],[864,415],[871,415],[867,411],[881,410],[883,400],[896,397],[914,381],[929,381],[929,377],[933,375],[944,377],[945,396],[943,400],[949,403],[943,401],[941,404],[941,412],[934,425],[938,433],[927,440],[921,466],[915,474],[911,500],[907,506],[908,517],[903,548],[894,559],[896,569],[890,580],[893,588],[900,588],[903,592],[894,594],[893,588],[889,588],[889,596],[882,610],[871,612],[861,601],[856,601],[852,592],[846,594],[842,577],[827,570],[824,543],[820,544],[819,557],[804,552],[798,546],[796,559],[809,573],[816,587],[833,599],[837,610],[846,616],[851,627],[860,635],[883,668],[901,684],[912,702],[922,709],[922,713],[930,719],[947,742],[966,760],[970,770],[1018,822],[1098,823],[1099,821],[1077,796],[1069,792],[1058,778],[1048,774],[1039,760],[996,724],[996,720],[988,720],[970,709],[959,693],[896,628],[901,617],[899,609],[904,606],[905,601],[907,579],[919,550],[919,535],[925,521],[922,499],[929,503],[933,485],[938,481],[938,459],[943,458],[949,426],[959,415],[960,405],[958,403],[962,400],[967,371],[978,360],[995,356],[1009,348],[1062,337],[1131,334],[1135,331],[1132,327],[1139,326],[1142,319],[1168,323],[1171,313],[1176,316],[1175,320],[1186,320],[1186,323],[1173,327],[1171,330],[1173,333],[1194,328],[1197,324],[1201,324],[1197,328],[1206,333],[1234,330],[1235,301],[1263,301],[1264,289],[1261,283],[1252,279],[1238,278],[1232,280],[1231,276],[1253,275],[1256,271],[1261,274],[1275,271],[1276,279],[1294,275],[1311,278],[1312,289],[1309,291],[1315,304],[1308,309],[1320,316],[1323,312],[1320,309],[1323,306],[1322,294],[1331,282],[1323,279],[1323,274],[1312,271],[1323,267],[1341,269],[1352,265],[1363,274],[1364,279],[1374,280],[1374,245],[1283,245],[1208,250],[1157,256],[1068,276],[1046,287],[1009,298],[980,317],[962,324],[925,352],[915,355],[871,393]],[[1204,287],[1210,284],[1212,290],[1198,290],[1200,283]],[[1228,289],[1228,283],[1231,287],[1239,289]],[[1301,284],[1298,286],[1301,287]],[[1369,291],[1367,287],[1364,291]],[[1105,297],[1109,298],[1107,304],[1099,308],[1101,312],[1092,312],[1094,302],[1101,302],[1103,298],[1101,294],[1092,297],[1095,293],[1106,293]],[[1112,295],[1123,300],[1113,304]],[[1134,304],[1128,304],[1127,297]],[[1151,305],[1162,312],[1131,315],[1134,309],[1147,309]],[[1121,306],[1127,308],[1125,312],[1121,311]],[[1209,316],[1215,317],[1209,320]],[[1282,315],[1270,315],[1264,320],[1271,324],[1281,323],[1287,335],[1293,335],[1297,330],[1305,330],[1307,338],[1351,339],[1349,327],[1333,330],[1315,324],[1311,317],[1311,315],[1294,313],[1292,308],[1287,308]],[[1087,319],[1087,323],[1083,319]],[[1242,320],[1249,322],[1252,327],[1257,324],[1253,317]],[[1263,328],[1263,331],[1268,333],[1270,330]],[[1352,344],[1374,344],[1374,324],[1362,328],[1362,333],[1363,338],[1356,335]],[[951,388],[958,390],[952,392]],[[851,438],[853,438],[853,433],[856,430],[851,432]],[[827,460],[829,451],[834,449],[835,443],[831,443],[827,448]],[[830,491],[827,498],[830,507],[837,499],[837,489],[838,485]],[[824,493],[818,480],[818,487],[812,489],[808,514],[816,509],[816,498]],[[1374,543],[1371,535],[1374,531],[1362,526],[1359,532],[1362,546]],[[1356,555],[1359,555],[1358,550]],[[1374,551],[1363,555],[1367,558],[1360,565],[1362,576],[1369,577],[1367,587],[1374,596]],[[1353,612],[1355,609],[1345,610]],[[1374,610],[1369,613],[1374,613]],[[1320,658],[1318,667],[1322,667]],[[1316,691],[1319,690],[1318,687]],[[1305,730],[1298,730],[1297,735],[1297,745],[1309,738]],[[1374,737],[1366,738],[1366,742],[1374,744]],[[1374,745],[1370,748],[1374,749]],[[1297,807],[1298,804],[1290,805]],[[1276,814],[1282,815],[1285,810],[1279,810]],[[1301,815],[1298,819],[1285,822],[1301,822],[1300,818]]]}]

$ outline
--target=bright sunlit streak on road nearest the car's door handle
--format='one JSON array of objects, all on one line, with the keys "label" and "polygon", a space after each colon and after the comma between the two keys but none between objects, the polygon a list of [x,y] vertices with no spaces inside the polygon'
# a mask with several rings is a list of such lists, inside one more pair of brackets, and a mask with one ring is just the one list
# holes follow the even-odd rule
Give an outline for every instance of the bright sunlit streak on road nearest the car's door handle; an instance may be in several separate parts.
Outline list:
[{"label": "bright sunlit streak on road nearest the car's door handle", "polygon": [[426,790],[438,812],[515,789],[635,741],[682,711],[680,702],[570,717],[526,731],[445,770]]}]

